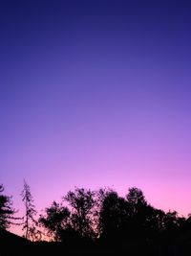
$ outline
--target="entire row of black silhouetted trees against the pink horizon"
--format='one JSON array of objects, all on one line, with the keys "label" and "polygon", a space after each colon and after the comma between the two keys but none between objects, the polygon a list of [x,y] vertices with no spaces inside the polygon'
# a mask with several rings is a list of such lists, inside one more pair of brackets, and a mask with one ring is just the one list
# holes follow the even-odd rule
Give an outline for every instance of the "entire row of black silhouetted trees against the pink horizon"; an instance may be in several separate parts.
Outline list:
[{"label": "entire row of black silhouetted trees against the pink horizon", "polygon": [[[19,218],[14,217],[11,198],[2,194],[3,186],[0,193],[0,227],[8,229]],[[76,255],[80,250],[93,255],[187,255],[191,251],[191,218],[156,209],[136,187],[124,198],[111,189],[75,188],[60,202],[53,201],[37,220],[26,182],[21,196],[26,209],[20,219],[24,237],[38,241],[29,245],[32,253],[36,253],[34,248],[44,251],[45,247],[50,253],[61,248]],[[49,243],[42,242],[45,236]]]}]

